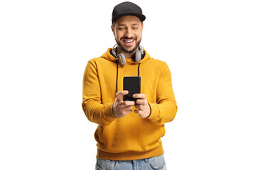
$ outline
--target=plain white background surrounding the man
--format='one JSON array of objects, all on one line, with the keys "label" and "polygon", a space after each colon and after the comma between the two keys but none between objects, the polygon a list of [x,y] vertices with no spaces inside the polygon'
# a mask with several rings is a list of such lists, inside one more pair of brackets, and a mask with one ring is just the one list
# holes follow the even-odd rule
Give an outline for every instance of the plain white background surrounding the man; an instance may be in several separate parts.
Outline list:
[{"label": "plain white background surrounding the man", "polygon": [[[95,169],[87,61],[115,44],[122,1],[0,2],[0,169]],[[168,169],[256,169],[254,1],[133,1],[142,46],[171,69],[178,113]]]}]

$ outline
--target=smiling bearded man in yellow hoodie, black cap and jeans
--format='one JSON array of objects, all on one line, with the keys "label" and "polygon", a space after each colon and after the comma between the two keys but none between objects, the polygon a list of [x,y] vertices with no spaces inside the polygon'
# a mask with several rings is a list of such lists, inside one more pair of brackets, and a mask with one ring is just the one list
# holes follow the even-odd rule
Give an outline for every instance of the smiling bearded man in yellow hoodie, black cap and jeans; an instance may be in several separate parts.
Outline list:
[{"label": "smiling bearded man in yellow hoodie, black cap and jeans", "polygon": [[[112,32],[117,47],[90,60],[82,86],[82,108],[98,124],[96,169],[166,169],[161,137],[177,106],[171,72],[140,47],[142,9],[131,2],[114,7]],[[124,101],[123,77],[141,77],[141,94]]]}]

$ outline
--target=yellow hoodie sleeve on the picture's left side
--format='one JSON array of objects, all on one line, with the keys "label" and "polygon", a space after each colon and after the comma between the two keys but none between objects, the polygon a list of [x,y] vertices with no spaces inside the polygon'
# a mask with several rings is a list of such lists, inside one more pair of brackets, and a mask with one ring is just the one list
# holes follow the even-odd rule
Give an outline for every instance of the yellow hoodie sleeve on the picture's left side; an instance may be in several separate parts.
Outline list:
[{"label": "yellow hoodie sleeve on the picture's left side", "polygon": [[97,65],[89,61],[82,80],[82,109],[87,119],[102,126],[109,125],[115,119],[112,104],[102,104]]}]

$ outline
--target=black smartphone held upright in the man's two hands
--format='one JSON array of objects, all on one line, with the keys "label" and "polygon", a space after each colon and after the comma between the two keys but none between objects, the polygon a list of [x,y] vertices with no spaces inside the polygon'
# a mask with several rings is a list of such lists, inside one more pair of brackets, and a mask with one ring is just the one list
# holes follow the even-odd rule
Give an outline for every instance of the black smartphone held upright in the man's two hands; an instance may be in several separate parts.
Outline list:
[{"label": "black smartphone held upright in the man's two hands", "polygon": [[123,89],[129,91],[129,94],[124,95],[124,101],[136,101],[138,98],[133,98],[133,94],[140,94],[141,77],[124,77]]}]

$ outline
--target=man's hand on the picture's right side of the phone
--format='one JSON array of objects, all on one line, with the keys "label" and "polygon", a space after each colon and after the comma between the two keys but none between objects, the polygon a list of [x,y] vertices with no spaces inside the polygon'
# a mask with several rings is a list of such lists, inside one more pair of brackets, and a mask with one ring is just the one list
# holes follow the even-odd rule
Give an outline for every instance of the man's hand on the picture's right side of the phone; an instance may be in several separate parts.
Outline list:
[{"label": "man's hand on the picture's right side of the phone", "polygon": [[147,118],[151,114],[151,108],[146,100],[146,94],[134,94],[134,98],[139,98],[136,100],[134,113],[138,113],[141,118]]}]

